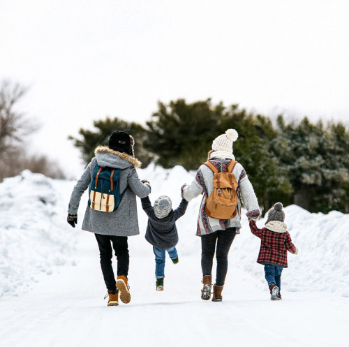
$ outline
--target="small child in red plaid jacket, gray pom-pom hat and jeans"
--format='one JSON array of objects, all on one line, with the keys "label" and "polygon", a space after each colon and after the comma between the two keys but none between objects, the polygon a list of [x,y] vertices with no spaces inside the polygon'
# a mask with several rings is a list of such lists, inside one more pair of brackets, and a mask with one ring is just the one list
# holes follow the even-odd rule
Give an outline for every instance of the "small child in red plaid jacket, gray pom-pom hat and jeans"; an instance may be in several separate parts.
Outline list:
[{"label": "small child in red plaid jacket, gray pom-pom hat and jeans", "polygon": [[260,253],[257,263],[265,266],[265,279],[268,282],[271,300],[281,300],[281,272],[288,267],[287,251],[297,254],[298,250],[287,231],[283,205],[277,202],[274,208],[269,209],[265,228],[258,229],[255,220],[250,221],[253,235],[260,237]]}]

